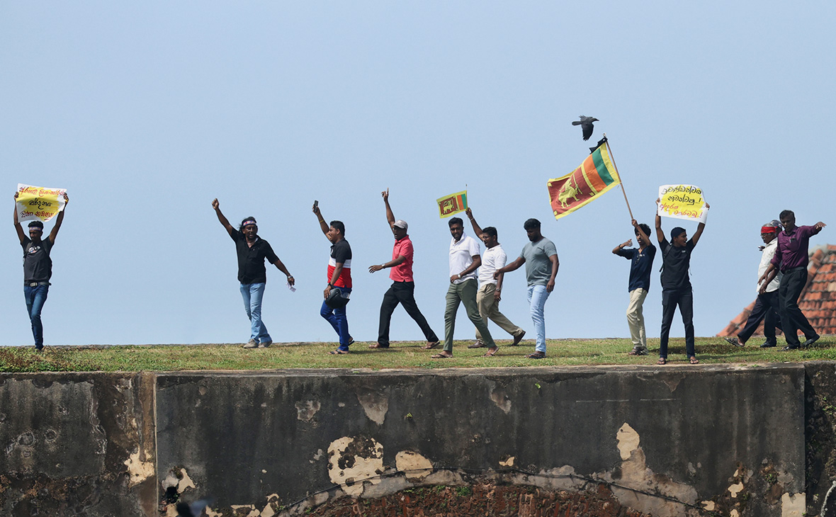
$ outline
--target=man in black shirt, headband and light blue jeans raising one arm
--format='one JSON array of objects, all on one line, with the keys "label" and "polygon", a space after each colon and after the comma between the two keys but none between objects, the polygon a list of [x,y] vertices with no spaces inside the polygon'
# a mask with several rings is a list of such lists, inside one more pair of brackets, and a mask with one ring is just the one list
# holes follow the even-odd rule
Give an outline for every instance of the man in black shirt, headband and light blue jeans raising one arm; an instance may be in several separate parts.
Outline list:
[{"label": "man in black shirt, headband and light blue jeans raising one arm", "polygon": [[244,309],[247,310],[247,317],[250,318],[250,340],[244,348],[267,348],[273,344],[273,339],[261,318],[262,298],[267,284],[267,268],[264,267],[264,259],[288,276],[288,285],[293,286],[295,280],[278,256],[273,253],[273,247],[268,241],[257,235],[258,226],[254,217],[242,220],[241,226],[236,230],[221,213],[217,198],[212,201],[212,208],[215,209],[217,220],[221,221],[222,226],[232,237],[232,241],[235,241],[238,254],[238,281],[241,282]]}]

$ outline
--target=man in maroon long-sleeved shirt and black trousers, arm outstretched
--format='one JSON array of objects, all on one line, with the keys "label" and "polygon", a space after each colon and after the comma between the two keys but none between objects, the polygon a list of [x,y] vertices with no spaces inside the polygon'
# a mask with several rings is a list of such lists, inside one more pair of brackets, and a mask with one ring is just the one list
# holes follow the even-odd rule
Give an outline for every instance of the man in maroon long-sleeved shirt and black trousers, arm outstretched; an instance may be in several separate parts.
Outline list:
[{"label": "man in maroon long-sleeved shirt and black trousers, arm outstretched", "polygon": [[[807,284],[807,263],[810,237],[818,235],[825,225],[818,221],[814,226],[795,226],[795,214],[792,210],[784,210],[778,216],[784,231],[778,233],[778,246],[775,256],[767,267],[767,271],[758,279],[762,286],[766,286],[777,275],[778,269],[783,273],[781,285],[778,286],[778,308],[781,313],[781,327],[787,346],[784,350],[795,350],[808,347],[818,340],[818,334],[798,308],[798,297],[801,296]],[[798,331],[804,332],[807,341],[800,342]]]}]

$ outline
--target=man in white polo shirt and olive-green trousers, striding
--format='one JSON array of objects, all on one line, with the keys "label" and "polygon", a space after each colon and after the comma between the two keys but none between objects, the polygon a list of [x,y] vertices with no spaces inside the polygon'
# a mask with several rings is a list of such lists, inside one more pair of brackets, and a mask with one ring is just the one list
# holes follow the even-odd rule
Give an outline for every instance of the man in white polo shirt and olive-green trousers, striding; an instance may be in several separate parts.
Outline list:
[{"label": "man in white polo shirt and olive-green trousers, striding", "polygon": [[[479,316],[476,304],[477,279],[476,270],[482,265],[479,255],[479,243],[471,236],[465,235],[464,221],[461,217],[453,217],[448,223],[450,235],[450,287],[447,288],[447,307],[444,311],[444,349],[431,356],[434,359],[453,357],[453,330],[456,328],[456,312],[459,303],[465,304],[467,317],[482,335],[482,341],[489,349],[496,353],[497,345],[493,342],[491,331],[487,330],[485,320]],[[434,348],[436,344],[425,348]]]}]

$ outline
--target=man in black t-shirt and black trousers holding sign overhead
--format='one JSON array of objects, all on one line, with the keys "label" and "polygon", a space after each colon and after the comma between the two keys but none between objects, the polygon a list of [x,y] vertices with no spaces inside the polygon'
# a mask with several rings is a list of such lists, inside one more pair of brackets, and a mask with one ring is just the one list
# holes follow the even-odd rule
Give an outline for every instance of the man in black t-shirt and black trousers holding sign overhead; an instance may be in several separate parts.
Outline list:
[{"label": "man in black t-shirt and black trousers holding sign overhead", "polygon": [[[706,210],[709,206],[706,203]],[[691,240],[688,240],[685,228],[677,226],[670,231],[670,243],[662,231],[662,218],[659,215],[659,200],[656,200],[656,238],[662,252],[662,331],[659,339],[659,361],[668,362],[668,335],[670,324],[674,321],[676,306],[680,308],[682,323],[685,324],[685,349],[691,364],[699,364],[694,349],[694,292],[688,268],[691,267],[691,251],[700,240],[706,223],[700,221]]]}]

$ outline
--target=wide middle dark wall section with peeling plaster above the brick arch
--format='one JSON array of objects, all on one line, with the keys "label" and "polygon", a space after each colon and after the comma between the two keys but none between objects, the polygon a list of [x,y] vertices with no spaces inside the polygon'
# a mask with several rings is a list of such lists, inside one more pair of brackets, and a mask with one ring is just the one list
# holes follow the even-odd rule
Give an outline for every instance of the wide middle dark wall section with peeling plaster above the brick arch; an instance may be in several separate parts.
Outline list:
[{"label": "wide middle dark wall section with peeling plaster above the brick arch", "polygon": [[655,515],[800,517],[804,388],[803,365],[164,373],[157,476],[251,517],[465,471],[602,480]]}]

